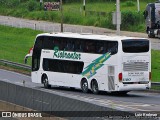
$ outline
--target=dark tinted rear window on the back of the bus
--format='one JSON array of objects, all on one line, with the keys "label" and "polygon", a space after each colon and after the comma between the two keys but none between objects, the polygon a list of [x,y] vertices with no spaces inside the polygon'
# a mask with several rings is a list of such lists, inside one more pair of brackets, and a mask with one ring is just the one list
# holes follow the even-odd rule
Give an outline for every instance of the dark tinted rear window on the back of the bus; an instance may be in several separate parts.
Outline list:
[{"label": "dark tinted rear window on the back of the bus", "polygon": [[122,40],[122,49],[126,53],[148,52],[149,40]]}]

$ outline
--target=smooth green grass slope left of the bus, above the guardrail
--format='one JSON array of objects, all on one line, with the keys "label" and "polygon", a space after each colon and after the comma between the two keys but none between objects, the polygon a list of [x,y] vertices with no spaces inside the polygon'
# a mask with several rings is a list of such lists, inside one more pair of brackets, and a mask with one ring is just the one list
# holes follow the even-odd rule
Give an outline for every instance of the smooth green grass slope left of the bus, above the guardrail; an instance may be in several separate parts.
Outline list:
[{"label": "smooth green grass slope left of the bus, above the guardrail", "polygon": [[33,46],[38,33],[41,32],[0,25],[0,59],[24,63],[24,56]]}]

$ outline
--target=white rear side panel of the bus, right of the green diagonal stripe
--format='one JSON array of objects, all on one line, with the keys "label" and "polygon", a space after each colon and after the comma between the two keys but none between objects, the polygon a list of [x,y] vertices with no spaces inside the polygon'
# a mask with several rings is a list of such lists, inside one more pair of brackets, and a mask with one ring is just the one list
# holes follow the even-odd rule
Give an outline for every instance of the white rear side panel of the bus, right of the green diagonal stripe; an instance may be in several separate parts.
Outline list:
[{"label": "white rear side panel of the bus, right of the green diagonal stripe", "polygon": [[117,55],[112,55],[93,76],[98,82],[99,90],[115,91],[117,89],[117,57]]}]

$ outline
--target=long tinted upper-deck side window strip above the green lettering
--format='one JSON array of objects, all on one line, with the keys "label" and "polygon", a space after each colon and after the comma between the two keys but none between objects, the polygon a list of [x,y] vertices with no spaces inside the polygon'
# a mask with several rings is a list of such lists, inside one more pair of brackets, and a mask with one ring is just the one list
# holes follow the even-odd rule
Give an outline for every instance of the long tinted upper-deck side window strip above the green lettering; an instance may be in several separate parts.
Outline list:
[{"label": "long tinted upper-deck side window strip above the green lettering", "polygon": [[42,49],[53,50],[54,47],[58,47],[59,50],[75,51],[84,53],[104,54],[111,52],[116,54],[118,50],[117,41],[101,41],[101,40],[89,40],[79,38],[64,38],[64,37],[50,37],[40,36],[37,41],[43,40],[41,46]]}]

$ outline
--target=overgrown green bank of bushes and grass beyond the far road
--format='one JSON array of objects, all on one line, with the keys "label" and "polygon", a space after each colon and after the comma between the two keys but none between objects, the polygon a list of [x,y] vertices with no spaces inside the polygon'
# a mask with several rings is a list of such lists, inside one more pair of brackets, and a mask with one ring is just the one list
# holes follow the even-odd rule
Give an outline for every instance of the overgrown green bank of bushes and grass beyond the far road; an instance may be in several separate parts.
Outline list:
[{"label": "overgrown green bank of bushes and grass beyond the far road", "polygon": [[[121,29],[145,32],[143,11],[149,2],[155,0],[140,0],[141,11],[137,12],[136,0],[121,0]],[[83,1],[63,0],[64,23],[115,29],[112,25],[112,12],[116,10],[115,3],[116,0],[87,0],[86,16],[84,16]],[[52,22],[61,21],[60,11],[44,11],[43,6],[40,7],[39,0],[1,0],[0,14]]]}]

